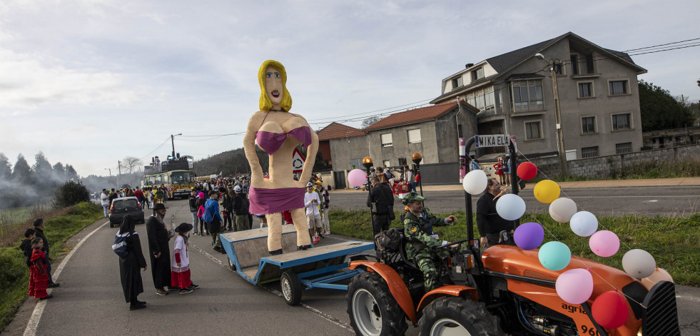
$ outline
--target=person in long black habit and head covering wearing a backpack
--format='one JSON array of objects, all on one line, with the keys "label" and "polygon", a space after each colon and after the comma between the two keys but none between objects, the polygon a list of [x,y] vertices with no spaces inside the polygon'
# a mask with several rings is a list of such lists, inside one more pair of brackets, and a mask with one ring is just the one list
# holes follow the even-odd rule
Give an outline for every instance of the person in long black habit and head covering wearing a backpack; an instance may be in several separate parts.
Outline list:
[{"label": "person in long black habit and head covering wearing a backpack", "polygon": [[130,215],[124,216],[121,226],[117,232],[118,237],[126,237],[128,255],[126,258],[119,258],[119,275],[121,276],[121,288],[124,290],[124,299],[131,303],[129,310],[137,310],[146,307],[146,302],[138,300],[138,295],[143,292],[143,281],[139,268],[144,271],[148,268],[146,258],[141,252],[141,240],[134,228],[133,219]]}]

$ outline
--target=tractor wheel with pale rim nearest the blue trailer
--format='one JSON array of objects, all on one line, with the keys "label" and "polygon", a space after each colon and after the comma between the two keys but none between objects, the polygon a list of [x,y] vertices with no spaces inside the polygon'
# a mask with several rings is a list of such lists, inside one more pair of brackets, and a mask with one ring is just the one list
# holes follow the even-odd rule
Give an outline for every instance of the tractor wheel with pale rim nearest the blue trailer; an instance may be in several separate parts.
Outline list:
[{"label": "tractor wheel with pale rim nearest the blue trailer", "polygon": [[387,282],[377,273],[367,272],[352,278],[348,285],[348,315],[357,335],[404,335],[406,315],[389,291]]}]

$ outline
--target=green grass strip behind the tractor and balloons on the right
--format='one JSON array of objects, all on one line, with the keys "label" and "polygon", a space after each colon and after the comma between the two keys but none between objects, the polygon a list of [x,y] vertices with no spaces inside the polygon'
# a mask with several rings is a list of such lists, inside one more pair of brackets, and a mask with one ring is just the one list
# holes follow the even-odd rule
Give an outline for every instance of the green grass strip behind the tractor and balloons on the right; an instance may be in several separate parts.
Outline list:
[{"label": "green grass strip behind the tractor and balloons on the right", "polygon": [[[396,213],[391,227],[401,224]],[[439,217],[455,215],[457,224],[436,228],[443,240],[462,240],[467,238],[466,213],[458,211],[450,214],[435,214]],[[620,250],[609,258],[602,258],[591,252],[587,237],[575,235],[569,225],[557,223],[549,214],[525,214],[520,223],[536,222],[544,227],[544,241],[559,240],[569,246],[572,255],[597,261],[622,270],[622,256],[628,250],[639,248],[654,256],[656,265],[667,270],[679,285],[700,287],[700,214],[686,218],[646,218],[637,216],[599,217],[599,230],[610,230],[620,238]],[[476,230],[475,238],[479,237]],[[334,209],[330,211],[332,233],[365,240],[372,239],[370,212],[367,210],[348,211]]]}]

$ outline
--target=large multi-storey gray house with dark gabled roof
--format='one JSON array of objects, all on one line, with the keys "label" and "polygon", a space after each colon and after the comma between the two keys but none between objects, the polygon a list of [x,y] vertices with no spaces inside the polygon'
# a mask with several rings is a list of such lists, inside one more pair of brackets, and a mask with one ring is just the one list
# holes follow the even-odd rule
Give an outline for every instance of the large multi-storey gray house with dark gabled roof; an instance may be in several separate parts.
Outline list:
[{"label": "large multi-storey gray house with dark gabled roof", "polygon": [[637,75],[646,70],[629,55],[571,32],[467,64],[442,80],[442,95],[431,103],[464,99],[478,109],[477,133],[516,136],[526,155],[556,154],[550,60],[557,73],[567,160],[640,151]]}]

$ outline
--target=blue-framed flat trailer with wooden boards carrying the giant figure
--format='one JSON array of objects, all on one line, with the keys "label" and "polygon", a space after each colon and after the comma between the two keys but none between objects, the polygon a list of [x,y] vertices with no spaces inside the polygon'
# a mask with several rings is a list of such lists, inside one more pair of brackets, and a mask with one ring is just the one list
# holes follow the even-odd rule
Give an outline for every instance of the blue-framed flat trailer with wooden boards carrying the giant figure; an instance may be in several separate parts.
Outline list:
[{"label": "blue-framed flat trailer with wooden boards carrying the giant figure", "polygon": [[364,271],[348,270],[346,258],[374,250],[374,243],[362,241],[297,250],[293,225],[283,225],[281,255],[269,255],[267,228],[222,233],[220,238],[232,270],[253,285],[279,280],[283,297],[289,305],[300,302],[304,289],[348,290],[348,285],[336,282]]}]

